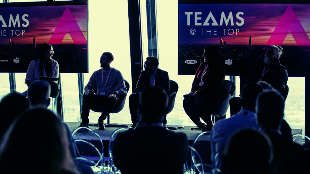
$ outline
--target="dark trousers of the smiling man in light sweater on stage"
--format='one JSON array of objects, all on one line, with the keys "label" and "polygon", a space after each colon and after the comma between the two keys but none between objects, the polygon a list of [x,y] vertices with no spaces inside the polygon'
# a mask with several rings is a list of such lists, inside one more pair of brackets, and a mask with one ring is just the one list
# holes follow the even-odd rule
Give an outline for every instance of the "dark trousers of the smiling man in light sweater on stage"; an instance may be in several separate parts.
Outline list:
[{"label": "dark trousers of the smiling man in light sweater on stage", "polygon": [[116,98],[110,97],[105,95],[85,95],[82,105],[82,122],[89,123],[89,110],[91,106],[95,105],[104,105],[104,111],[102,112],[101,116],[99,117],[100,120],[105,120],[110,112],[114,109],[114,106],[117,102]]}]

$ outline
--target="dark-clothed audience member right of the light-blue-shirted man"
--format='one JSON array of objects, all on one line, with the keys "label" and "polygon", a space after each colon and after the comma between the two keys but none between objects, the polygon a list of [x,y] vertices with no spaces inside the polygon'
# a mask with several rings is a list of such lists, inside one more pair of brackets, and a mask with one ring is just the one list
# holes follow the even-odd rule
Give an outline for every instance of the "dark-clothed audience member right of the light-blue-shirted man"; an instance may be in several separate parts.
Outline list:
[{"label": "dark-clothed audience member right of the light-blue-shirted man", "polygon": [[[304,152],[303,147],[281,137],[280,125],[284,115],[284,101],[276,91],[267,91],[258,95],[256,101],[256,114],[259,128],[270,137],[273,149],[274,160],[272,173],[278,173],[286,161],[294,161],[293,155]],[[277,166],[277,167],[276,167]]]}]

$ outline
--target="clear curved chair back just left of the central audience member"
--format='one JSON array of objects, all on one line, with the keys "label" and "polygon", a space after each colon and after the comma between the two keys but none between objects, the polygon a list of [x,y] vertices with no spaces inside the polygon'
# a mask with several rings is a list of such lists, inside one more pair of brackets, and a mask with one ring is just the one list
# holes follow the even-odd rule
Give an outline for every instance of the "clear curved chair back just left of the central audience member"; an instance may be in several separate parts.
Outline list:
[{"label": "clear curved chair back just left of the central audience member", "polygon": [[[121,173],[118,168],[115,167],[114,161],[113,161],[113,154],[112,154],[112,148],[113,148],[113,143],[115,141],[115,138],[117,137],[117,134],[120,132],[125,132],[128,131],[126,128],[119,128],[115,130],[109,140],[109,161],[108,161],[108,173]],[[130,160],[130,159],[129,159]]]}]

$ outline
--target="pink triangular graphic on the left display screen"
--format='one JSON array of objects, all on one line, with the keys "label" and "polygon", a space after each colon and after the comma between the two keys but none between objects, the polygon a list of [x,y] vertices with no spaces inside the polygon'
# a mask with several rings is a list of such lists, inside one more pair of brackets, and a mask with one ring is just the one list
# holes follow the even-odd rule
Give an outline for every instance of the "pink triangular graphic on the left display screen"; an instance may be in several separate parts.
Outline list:
[{"label": "pink triangular graphic on the left display screen", "polygon": [[64,14],[61,16],[50,40],[49,44],[60,44],[66,33],[69,33],[74,44],[86,44],[87,41],[81,31],[81,28],[78,26],[77,21],[74,19],[69,7],[64,11]]}]

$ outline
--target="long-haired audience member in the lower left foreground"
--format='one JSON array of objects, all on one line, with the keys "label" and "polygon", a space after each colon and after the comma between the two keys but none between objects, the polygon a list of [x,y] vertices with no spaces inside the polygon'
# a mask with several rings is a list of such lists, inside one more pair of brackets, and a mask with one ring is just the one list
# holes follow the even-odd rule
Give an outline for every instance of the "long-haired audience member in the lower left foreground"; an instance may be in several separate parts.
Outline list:
[{"label": "long-haired audience member in the lower left foreground", "polygon": [[[78,174],[65,134],[52,111],[36,108],[25,112],[13,121],[1,142],[0,168],[9,173]],[[18,159],[24,160],[16,164]]]}]

